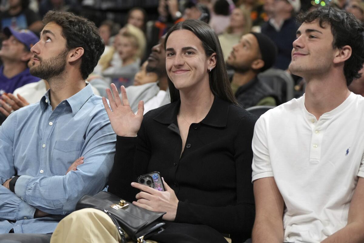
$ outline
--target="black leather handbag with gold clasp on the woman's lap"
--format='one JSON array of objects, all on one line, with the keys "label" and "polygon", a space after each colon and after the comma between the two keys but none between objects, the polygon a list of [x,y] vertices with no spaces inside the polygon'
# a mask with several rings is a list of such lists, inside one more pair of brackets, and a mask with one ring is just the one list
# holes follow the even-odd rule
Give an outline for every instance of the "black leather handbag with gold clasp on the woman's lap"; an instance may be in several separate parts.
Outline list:
[{"label": "black leather handbag with gold clasp on the woman's lap", "polygon": [[125,233],[138,243],[163,231],[162,216],[165,212],[152,212],[102,191],[95,196],[84,195],[76,204],[76,210],[95,208],[107,213],[126,243]]}]

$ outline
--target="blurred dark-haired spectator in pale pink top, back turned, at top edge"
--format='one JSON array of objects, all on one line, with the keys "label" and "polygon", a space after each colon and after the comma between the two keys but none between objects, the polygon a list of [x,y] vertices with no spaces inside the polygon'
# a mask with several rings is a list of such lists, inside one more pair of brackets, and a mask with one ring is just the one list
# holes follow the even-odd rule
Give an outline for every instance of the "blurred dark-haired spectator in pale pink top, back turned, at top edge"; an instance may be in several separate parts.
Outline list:
[{"label": "blurred dark-haired spectator in pale pink top, back turned, at top edge", "polygon": [[217,0],[213,6],[213,12],[209,25],[217,35],[222,34],[230,24],[230,4],[226,0]]}]

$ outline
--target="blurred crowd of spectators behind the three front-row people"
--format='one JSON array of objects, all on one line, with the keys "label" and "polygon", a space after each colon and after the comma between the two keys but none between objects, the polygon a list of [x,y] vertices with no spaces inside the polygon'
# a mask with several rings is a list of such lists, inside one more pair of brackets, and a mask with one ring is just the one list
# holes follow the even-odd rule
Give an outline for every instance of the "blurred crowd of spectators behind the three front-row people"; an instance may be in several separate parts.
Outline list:
[{"label": "blurred crowd of spectators behind the three front-row people", "polygon": [[[166,91],[167,85],[161,81],[167,79],[162,77],[165,70],[148,66],[148,62],[164,55],[159,42],[171,26],[199,19],[218,35],[233,92],[241,105],[249,108],[280,105],[304,93],[305,81],[288,71],[298,28],[295,16],[325,6],[345,9],[364,21],[362,0],[1,0],[0,29],[30,30],[39,36],[41,19],[52,9],[94,21],[106,48],[87,81],[96,94],[105,96],[111,83],[120,91],[122,85],[159,82],[157,92]],[[29,77],[26,71],[32,62],[19,51],[11,51],[15,42],[9,41],[9,33],[1,34],[0,105],[11,102],[8,93],[20,95],[20,106],[36,102],[39,97],[34,93],[44,94],[47,82]],[[253,39],[249,42],[249,38]],[[17,41],[27,46],[26,40]],[[26,49],[24,52],[30,52]],[[257,59],[264,64],[257,66]],[[355,80],[349,89],[364,94],[362,79]]]}]

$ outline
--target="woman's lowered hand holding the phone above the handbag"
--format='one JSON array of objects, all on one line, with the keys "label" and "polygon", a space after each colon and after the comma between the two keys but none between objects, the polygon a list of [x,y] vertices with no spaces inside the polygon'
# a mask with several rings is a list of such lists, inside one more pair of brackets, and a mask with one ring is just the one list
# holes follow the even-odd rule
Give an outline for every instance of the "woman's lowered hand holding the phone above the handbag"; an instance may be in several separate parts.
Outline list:
[{"label": "woman's lowered hand holding the phone above the handbag", "polygon": [[137,201],[133,201],[133,204],[154,212],[167,212],[163,215],[163,219],[174,221],[177,213],[178,199],[173,189],[164,180],[163,184],[166,189],[165,192],[136,182],[131,183],[132,187],[142,190],[142,192],[135,196]]}]

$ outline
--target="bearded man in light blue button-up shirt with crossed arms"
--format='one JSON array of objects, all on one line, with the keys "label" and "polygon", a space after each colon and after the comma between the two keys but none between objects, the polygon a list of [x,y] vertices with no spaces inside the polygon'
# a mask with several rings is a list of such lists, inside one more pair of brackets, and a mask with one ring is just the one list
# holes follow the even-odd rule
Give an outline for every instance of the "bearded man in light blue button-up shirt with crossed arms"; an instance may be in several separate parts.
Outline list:
[{"label": "bearded man in light blue button-up shirt with crossed arms", "polygon": [[98,30],[72,13],[50,11],[43,23],[30,71],[50,90],[0,127],[0,242],[49,241],[80,197],[102,191],[113,164],[116,135],[85,83],[104,50]]}]

